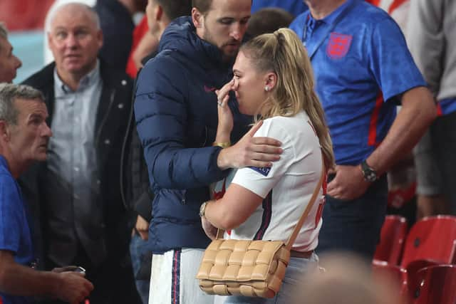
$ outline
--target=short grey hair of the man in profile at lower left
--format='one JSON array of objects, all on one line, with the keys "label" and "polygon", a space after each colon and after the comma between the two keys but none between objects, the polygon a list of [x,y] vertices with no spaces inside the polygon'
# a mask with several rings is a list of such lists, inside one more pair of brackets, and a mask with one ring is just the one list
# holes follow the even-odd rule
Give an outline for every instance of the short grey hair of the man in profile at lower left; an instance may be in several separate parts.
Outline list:
[{"label": "short grey hair of the man in profile at lower left", "polygon": [[14,105],[14,100],[18,98],[44,102],[43,93],[29,85],[0,83],[0,120],[11,125],[17,125],[19,110]]}]

